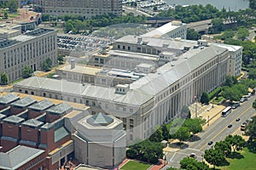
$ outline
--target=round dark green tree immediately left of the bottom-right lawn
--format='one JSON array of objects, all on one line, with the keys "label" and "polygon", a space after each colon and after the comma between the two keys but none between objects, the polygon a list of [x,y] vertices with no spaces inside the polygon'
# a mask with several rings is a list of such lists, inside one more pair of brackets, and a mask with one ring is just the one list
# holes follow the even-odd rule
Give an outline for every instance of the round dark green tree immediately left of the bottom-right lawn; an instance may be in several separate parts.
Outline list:
[{"label": "round dark green tree immediately left of the bottom-right lawn", "polygon": [[215,166],[223,166],[225,160],[224,154],[220,150],[205,150],[204,155],[205,160],[213,165],[213,168],[215,169]]}]

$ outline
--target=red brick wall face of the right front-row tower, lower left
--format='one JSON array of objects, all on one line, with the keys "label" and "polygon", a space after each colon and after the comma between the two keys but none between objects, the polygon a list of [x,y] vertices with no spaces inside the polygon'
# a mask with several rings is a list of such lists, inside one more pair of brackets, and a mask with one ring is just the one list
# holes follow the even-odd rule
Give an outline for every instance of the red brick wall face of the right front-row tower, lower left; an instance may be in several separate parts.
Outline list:
[{"label": "red brick wall face of the right front-row tower, lower left", "polygon": [[22,126],[21,139],[38,143],[38,129]]}]

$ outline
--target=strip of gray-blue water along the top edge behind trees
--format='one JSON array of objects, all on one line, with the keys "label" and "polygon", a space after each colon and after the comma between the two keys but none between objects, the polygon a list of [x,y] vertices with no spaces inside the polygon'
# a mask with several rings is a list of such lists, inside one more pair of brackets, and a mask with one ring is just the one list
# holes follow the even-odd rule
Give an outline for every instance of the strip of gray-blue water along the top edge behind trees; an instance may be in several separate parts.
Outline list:
[{"label": "strip of gray-blue water along the top edge behind trees", "polygon": [[192,5],[192,4],[201,4],[206,6],[208,3],[212,6],[222,9],[226,8],[227,10],[238,11],[239,9],[249,8],[248,0],[166,0],[167,4],[176,4],[176,5]]}]

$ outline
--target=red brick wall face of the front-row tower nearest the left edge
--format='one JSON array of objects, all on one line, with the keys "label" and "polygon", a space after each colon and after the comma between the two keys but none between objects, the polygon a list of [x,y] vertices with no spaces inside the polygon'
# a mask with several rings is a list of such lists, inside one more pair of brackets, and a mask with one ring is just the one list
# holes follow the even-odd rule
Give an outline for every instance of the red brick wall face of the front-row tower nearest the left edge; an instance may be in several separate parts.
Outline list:
[{"label": "red brick wall face of the front-row tower nearest the left edge", "polygon": [[19,126],[3,122],[3,136],[19,139]]}]

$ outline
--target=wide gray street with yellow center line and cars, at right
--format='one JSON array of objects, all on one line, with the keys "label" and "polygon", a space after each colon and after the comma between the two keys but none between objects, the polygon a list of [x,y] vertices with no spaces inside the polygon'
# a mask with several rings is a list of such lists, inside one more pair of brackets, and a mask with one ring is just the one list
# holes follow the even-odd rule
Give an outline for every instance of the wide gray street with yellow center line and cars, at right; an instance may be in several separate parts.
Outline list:
[{"label": "wide gray street with yellow center line and cars, at right", "polygon": [[[166,167],[178,168],[180,166],[179,161],[184,157],[189,156],[191,153],[195,153],[198,161],[203,161],[205,150],[210,149],[216,142],[224,140],[227,135],[236,132],[237,129],[240,128],[242,122],[245,122],[255,114],[255,110],[252,107],[254,99],[256,99],[256,95],[249,98],[235,110],[232,110],[230,115],[220,117],[217,121],[212,122],[204,132],[198,134],[199,138],[196,141],[184,144],[183,149],[176,152],[167,152],[166,161],[168,161],[168,166]],[[236,122],[237,118],[241,118],[241,120]],[[229,124],[232,124],[233,126],[229,128]],[[213,141],[212,145],[208,145],[210,140]],[[166,169],[166,167],[163,169]]]}]

